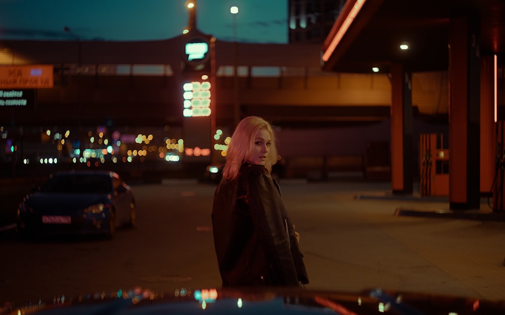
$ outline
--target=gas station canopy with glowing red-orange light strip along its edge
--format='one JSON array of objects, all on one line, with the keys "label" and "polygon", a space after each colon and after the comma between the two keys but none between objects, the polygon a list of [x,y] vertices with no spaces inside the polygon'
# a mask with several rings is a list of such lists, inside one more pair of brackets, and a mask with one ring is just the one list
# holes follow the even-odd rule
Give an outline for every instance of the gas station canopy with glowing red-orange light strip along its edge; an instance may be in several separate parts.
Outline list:
[{"label": "gas station canopy with glowing red-orange light strip along its edge", "polygon": [[411,72],[447,70],[453,18],[480,25],[480,53],[497,54],[498,67],[505,65],[503,0],[347,0],[323,45],[323,69],[371,73],[378,67],[387,73],[400,62]]}]

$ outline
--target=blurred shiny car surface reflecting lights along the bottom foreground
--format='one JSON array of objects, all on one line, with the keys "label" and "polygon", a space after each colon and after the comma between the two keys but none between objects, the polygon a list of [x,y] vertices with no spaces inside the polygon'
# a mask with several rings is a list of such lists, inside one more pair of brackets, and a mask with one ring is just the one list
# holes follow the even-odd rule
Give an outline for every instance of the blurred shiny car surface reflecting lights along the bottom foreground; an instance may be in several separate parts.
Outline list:
[{"label": "blurred shiny car surface reflecting lights along the bottom foreground", "polygon": [[[43,314],[145,314],[145,313],[265,313],[265,314],[495,314],[505,311],[505,301],[429,293],[369,289],[362,292],[305,290],[299,288],[185,289],[155,293],[132,290],[65,298],[60,303],[39,303],[19,309]],[[239,308],[243,308],[240,309]],[[17,311],[19,310],[19,311]]]}]

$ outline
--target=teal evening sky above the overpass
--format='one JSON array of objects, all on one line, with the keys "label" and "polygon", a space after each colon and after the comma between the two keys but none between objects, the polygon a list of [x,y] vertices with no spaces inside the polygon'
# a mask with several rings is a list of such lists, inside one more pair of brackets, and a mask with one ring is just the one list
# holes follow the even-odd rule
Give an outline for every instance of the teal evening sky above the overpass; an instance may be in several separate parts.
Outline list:
[{"label": "teal evening sky above the overpass", "polygon": [[[188,24],[186,0],[0,0],[0,40],[163,40]],[[241,42],[287,43],[287,0],[197,0],[197,28]]]}]

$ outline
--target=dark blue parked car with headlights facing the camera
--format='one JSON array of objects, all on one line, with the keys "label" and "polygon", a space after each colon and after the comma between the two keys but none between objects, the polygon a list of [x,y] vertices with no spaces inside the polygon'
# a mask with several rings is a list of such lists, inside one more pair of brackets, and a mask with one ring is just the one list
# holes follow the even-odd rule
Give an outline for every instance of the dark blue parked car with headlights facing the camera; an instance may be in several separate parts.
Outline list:
[{"label": "dark blue parked car with headlights facing the camera", "polygon": [[135,226],[135,199],[130,187],[112,171],[57,172],[19,205],[21,238],[36,235],[103,235]]}]

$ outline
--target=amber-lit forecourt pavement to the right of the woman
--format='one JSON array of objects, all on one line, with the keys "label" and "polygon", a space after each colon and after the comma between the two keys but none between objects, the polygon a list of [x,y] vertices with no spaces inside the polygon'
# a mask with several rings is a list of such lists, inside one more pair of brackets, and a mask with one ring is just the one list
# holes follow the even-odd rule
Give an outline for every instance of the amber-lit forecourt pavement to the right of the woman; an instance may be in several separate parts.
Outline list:
[{"label": "amber-lit forecourt pavement to the right of the woman", "polygon": [[[454,212],[447,198],[392,196],[388,182],[280,185],[309,288],[505,299],[505,221],[487,198],[481,209]],[[308,226],[311,213],[322,216]]]}]

